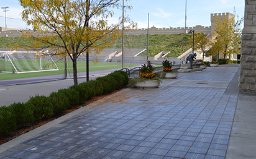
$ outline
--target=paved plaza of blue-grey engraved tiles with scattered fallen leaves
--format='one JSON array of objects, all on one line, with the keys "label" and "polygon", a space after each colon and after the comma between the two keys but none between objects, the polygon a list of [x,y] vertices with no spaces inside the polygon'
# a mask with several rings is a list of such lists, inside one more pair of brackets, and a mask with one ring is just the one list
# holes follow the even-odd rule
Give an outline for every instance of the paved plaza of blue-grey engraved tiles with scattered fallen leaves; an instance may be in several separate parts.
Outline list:
[{"label": "paved plaza of blue-grey engraved tiles with scattered fallen leaves", "polygon": [[0,145],[0,158],[256,158],[256,97],[238,92],[238,71],[125,88]]}]

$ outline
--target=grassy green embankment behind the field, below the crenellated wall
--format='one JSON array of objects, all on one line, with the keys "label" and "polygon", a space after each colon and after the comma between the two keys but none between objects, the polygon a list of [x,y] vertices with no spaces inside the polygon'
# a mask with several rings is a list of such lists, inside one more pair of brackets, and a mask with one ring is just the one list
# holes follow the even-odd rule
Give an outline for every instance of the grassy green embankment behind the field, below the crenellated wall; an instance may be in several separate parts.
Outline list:
[{"label": "grassy green embankment behind the field, below the crenellated wall", "polygon": [[[188,37],[190,34],[150,34],[149,35],[149,56],[155,56],[161,51],[170,51],[168,56],[176,58],[190,49]],[[31,41],[21,39],[21,37],[0,37],[0,48],[8,48],[15,43],[31,43]],[[122,38],[119,38],[112,48],[122,48]],[[145,35],[124,35],[124,48],[147,48],[147,34]],[[147,56],[147,51],[140,54]]]}]

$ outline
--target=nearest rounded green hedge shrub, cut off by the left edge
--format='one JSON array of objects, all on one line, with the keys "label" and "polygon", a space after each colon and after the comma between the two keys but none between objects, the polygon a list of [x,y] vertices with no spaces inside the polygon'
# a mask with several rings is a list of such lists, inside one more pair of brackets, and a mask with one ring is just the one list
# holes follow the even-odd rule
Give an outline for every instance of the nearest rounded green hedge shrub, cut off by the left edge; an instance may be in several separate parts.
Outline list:
[{"label": "nearest rounded green hedge shrub, cut off by the left edge", "polygon": [[0,134],[9,134],[16,128],[16,118],[7,106],[0,107]]}]

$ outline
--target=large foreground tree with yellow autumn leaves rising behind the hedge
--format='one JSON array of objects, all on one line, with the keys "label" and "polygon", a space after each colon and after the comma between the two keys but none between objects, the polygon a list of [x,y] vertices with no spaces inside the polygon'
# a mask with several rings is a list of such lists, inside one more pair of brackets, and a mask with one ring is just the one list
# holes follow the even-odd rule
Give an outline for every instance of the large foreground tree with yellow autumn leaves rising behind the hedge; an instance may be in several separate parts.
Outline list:
[{"label": "large foreground tree with yellow autumn leaves rising behind the hedge", "polygon": [[[125,0],[129,1],[129,0]],[[22,19],[32,25],[35,34],[23,31],[23,37],[35,41],[33,48],[50,49],[57,58],[69,56],[73,62],[74,84],[78,84],[76,60],[83,53],[98,54],[121,36],[122,22],[125,30],[136,24],[126,15],[116,24],[107,24],[114,15],[113,8],[122,9],[122,0],[19,0],[24,11]],[[130,6],[124,6],[131,9]],[[17,45],[16,48],[24,48]],[[25,46],[30,49],[30,46]],[[98,62],[98,59],[96,59]]]}]

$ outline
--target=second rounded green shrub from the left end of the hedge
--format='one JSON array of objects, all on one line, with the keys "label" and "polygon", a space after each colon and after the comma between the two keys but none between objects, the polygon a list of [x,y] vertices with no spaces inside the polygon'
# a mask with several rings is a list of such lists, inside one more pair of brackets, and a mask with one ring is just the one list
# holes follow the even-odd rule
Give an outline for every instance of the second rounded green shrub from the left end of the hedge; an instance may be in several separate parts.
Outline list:
[{"label": "second rounded green shrub from the left end of the hedge", "polygon": [[13,103],[9,105],[9,108],[11,108],[12,113],[14,113],[17,126],[22,126],[27,122],[33,121],[34,119],[33,108],[28,103]]}]

